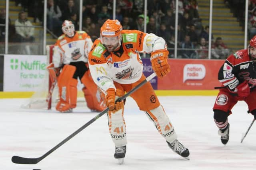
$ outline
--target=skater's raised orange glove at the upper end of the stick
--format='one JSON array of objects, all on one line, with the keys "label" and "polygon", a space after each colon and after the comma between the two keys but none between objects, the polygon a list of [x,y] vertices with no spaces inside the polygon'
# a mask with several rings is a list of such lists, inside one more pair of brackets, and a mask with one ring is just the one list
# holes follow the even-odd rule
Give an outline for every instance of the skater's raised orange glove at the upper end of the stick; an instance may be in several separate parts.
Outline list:
[{"label": "skater's raised orange glove at the upper end of the stick", "polygon": [[157,50],[151,53],[152,69],[158,77],[164,77],[171,71],[167,62],[168,54],[167,50]]}]

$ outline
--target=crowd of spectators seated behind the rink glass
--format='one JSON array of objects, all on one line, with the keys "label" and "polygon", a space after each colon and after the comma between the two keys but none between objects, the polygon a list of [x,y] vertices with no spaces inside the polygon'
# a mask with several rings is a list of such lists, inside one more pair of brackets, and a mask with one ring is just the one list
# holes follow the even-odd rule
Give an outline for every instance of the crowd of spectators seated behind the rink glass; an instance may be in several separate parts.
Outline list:
[{"label": "crowd of spectators seated behind the rink glass", "polygon": [[[75,29],[79,29],[79,3],[80,0],[47,0],[47,29],[54,37],[62,34],[61,25],[64,20],[74,23]],[[82,8],[82,30],[86,31],[92,41],[99,37],[100,26],[108,18],[112,19],[112,0],[84,0]],[[124,29],[137,29],[144,31],[144,0],[118,0],[116,1],[116,19]],[[16,6],[22,6],[19,19],[15,21],[15,30],[18,42],[33,42],[34,29],[24,25],[32,25],[26,19],[26,14],[34,18],[34,22],[43,23],[43,1],[16,0]],[[154,33],[165,39],[170,52],[169,57],[174,57],[175,40],[175,0],[148,0],[146,16],[146,32]],[[0,13],[1,18],[5,14]],[[24,18],[24,19],[23,19]],[[5,19],[4,19],[5,20]],[[0,23],[0,24],[1,24]],[[12,25],[10,23],[10,25]],[[4,27],[1,27],[4,28]],[[10,27],[9,27],[10,29]],[[1,31],[3,32],[3,31]],[[1,39],[4,39],[4,35]],[[209,27],[203,27],[198,14],[196,0],[178,1],[178,58],[208,59]],[[213,38],[213,37],[212,37]],[[213,39],[212,39],[213,40]],[[12,41],[12,40],[10,40]],[[225,49],[223,51],[223,49]],[[223,44],[221,37],[212,41],[212,58],[224,59],[229,52]]]}]

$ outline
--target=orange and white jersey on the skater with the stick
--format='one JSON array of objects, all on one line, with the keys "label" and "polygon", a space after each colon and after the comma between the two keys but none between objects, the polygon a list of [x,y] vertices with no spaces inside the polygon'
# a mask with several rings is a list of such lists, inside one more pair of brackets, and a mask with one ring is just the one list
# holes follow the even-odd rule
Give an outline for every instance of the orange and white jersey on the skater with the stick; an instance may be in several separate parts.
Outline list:
[{"label": "orange and white jersey on the skater with the stick", "polygon": [[122,30],[121,33],[122,44],[117,51],[108,52],[97,39],[89,53],[92,78],[104,92],[108,88],[116,89],[113,80],[120,84],[131,84],[141,78],[143,64],[139,53],[166,49],[164,39],[153,33],[138,30]]}]

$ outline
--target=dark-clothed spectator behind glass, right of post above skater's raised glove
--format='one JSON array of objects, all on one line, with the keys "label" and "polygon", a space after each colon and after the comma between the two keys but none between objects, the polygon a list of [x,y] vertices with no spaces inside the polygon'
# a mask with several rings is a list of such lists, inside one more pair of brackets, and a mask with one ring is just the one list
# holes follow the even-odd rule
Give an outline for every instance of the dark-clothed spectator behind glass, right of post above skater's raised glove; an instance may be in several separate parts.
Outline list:
[{"label": "dark-clothed spectator behind glass, right of post above skater's raised glove", "polygon": [[182,42],[182,44],[181,44],[181,48],[184,49],[181,51],[182,58],[184,58],[184,59],[193,59],[194,58],[195,51],[190,50],[190,49],[194,49],[194,45],[190,41],[189,35],[185,36],[184,42]]}]

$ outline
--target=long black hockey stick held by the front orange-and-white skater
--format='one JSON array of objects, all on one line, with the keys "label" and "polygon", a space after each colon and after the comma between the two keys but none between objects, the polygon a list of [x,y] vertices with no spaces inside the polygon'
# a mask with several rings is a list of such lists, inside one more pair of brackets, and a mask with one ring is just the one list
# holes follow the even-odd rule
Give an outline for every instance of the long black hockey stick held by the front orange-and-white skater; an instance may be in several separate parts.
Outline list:
[{"label": "long black hockey stick held by the front orange-and-white skater", "polygon": [[[143,86],[144,84],[146,84],[146,82],[149,82],[152,78],[154,78],[156,76],[156,73],[152,73],[150,76],[148,76],[145,80],[143,80],[140,84],[138,84],[136,87],[134,87],[130,92],[126,93],[124,96],[122,96],[121,98],[119,98],[118,100],[124,100],[125,98],[127,98],[128,96],[130,96],[133,92],[135,92],[136,90],[138,90],[138,88],[140,88],[141,86]],[[20,157],[20,156],[12,156],[12,162],[16,163],[16,164],[37,164],[38,162],[40,162],[42,159],[44,159],[46,156],[48,156],[50,153],[52,153],[54,150],[58,149],[60,146],[62,146],[64,143],[66,143],[67,141],[69,141],[72,137],[74,137],[75,135],[77,135],[80,131],[82,131],[84,128],[86,128],[87,126],[89,126],[90,124],[92,124],[94,121],[96,121],[99,117],[101,117],[102,115],[104,115],[105,113],[108,112],[108,108],[106,108],[104,111],[102,111],[100,114],[96,115],[94,118],[92,118],[90,121],[88,121],[85,125],[83,125],[82,127],[80,127],[79,129],[77,129],[74,133],[72,133],[71,135],[69,135],[66,139],[64,139],[63,141],[61,141],[58,145],[56,145],[55,147],[53,147],[51,150],[49,150],[48,152],[46,152],[44,155],[38,157],[38,158],[24,158],[24,157]]]}]

